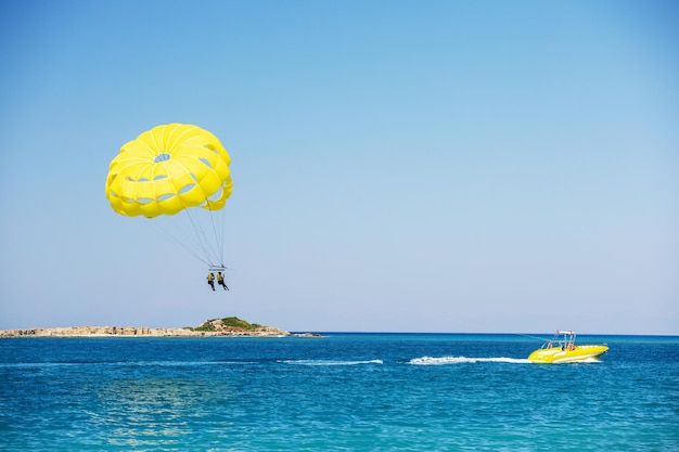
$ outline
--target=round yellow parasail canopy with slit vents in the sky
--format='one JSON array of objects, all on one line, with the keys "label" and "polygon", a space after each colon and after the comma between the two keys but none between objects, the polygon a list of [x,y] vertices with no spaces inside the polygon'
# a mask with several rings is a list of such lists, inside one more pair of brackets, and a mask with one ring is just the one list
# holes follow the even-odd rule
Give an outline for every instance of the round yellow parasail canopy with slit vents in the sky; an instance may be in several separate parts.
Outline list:
[{"label": "round yellow parasail canopy with slit vents in the sky", "polygon": [[149,218],[182,209],[221,209],[231,195],[231,158],[197,126],[157,126],[126,143],[111,162],[106,197],[120,215]]}]

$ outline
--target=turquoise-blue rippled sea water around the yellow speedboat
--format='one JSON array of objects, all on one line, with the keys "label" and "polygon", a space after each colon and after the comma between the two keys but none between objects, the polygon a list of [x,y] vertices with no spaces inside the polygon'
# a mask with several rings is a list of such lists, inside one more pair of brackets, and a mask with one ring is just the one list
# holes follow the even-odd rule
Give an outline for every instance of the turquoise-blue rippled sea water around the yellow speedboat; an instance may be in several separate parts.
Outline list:
[{"label": "turquoise-blue rippled sea water around the yellow speedboat", "polygon": [[7,451],[678,451],[679,337],[0,339]]}]

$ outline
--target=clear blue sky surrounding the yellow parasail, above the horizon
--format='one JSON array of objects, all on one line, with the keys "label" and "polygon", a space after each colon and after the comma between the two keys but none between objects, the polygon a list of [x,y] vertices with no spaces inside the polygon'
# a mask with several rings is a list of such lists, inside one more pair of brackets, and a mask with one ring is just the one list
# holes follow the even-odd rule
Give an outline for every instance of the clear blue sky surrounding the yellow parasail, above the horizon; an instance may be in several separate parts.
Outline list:
[{"label": "clear blue sky surrounding the yellow parasail, above the horizon", "polygon": [[[4,1],[0,328],[679,334],[675,1]],[[232,157],[230,293],[108,163]]]}]

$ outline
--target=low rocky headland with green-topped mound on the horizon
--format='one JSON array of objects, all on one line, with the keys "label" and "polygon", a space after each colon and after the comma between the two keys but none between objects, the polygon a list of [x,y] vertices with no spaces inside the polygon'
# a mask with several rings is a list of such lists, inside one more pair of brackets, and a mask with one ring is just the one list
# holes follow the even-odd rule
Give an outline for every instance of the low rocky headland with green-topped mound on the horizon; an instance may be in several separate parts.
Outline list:
[{"label": "low rocky headland with green-topped mound on the horizon", "polygon": [[0,330],[3,337],[320,337],[316,333],[293,334],[273,326],[248,323],[236,317],[210,319],[198,326],[183,328],[150,328],[146,326],[68,326],[54,328]]}]

